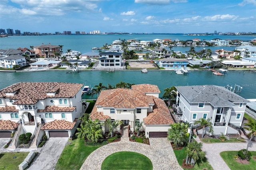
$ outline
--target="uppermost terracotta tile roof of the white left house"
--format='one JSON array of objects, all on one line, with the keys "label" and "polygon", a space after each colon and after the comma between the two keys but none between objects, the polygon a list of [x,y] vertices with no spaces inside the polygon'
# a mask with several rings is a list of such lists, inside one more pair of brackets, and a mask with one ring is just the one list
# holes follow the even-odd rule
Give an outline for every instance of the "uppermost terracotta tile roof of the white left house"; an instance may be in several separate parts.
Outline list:
[{"label": "uppermost terracotta tile roof of the white left house", "polygon": [[[80,83],[61,82],[24,82],[15,83],[0,90],[0,98],[10,98],[15,100],[14,105],[33,105],[38,100],[46,98],[74,97],[83,87]],[[16,92],[16,93],[15,93]],[[48,96],[47,92],[54,92],[54,96]],[[6,93],[15,93],[7,96]]]}]

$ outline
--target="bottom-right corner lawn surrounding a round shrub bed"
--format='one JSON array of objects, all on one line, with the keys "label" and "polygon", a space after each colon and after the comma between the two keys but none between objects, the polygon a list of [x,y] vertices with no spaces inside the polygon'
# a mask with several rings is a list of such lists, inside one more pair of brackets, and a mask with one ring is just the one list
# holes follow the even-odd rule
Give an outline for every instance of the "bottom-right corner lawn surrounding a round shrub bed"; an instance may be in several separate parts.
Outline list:
[{"label": "bottom-right corner lawn surrounding a round shrub bed", "polygon": [[[250,152],[252,152],[252,157],[256,156],[256,151],[250,151]],[[234,156],[237,154],[238,154],[238,151],[220,152],[220,156],[226,162],[226,164],[231,170],[255,170],[256,161],[253,158],[251,158],[249,164],[241,164],[239,162],[236,162],[236,160],[234,160]]]}]

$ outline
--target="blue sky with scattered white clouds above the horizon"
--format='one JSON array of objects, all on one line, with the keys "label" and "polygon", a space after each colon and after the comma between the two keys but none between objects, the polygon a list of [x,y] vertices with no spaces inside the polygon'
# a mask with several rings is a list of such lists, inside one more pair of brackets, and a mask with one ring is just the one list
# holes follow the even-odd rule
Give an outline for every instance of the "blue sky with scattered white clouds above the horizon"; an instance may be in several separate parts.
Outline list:
[{"label": "blue sky with scattered white clouds above the horizon", "polygon": [[0,28],[23,32],[256,32],[256,0],[0,0]]}]

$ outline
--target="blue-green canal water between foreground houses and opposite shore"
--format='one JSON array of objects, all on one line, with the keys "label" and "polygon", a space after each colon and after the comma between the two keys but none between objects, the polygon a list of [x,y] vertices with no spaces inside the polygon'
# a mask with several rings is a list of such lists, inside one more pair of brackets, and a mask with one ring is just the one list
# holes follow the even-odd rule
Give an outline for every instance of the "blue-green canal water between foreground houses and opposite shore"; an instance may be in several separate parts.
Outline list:
[{"label": "blue-green canal water between foreground houses and opposite shore", "polygon": [[[184,85],[218,85],[226,87],[239,85],[242,87],[238,95],[246,99],[256,99],[256,73],[249,71],[228,71],[223,76],[216,76],[212,71],[190,71],[187,75],[177,75],[175,71],[148,70],[141,71],[80,71],[79,73],[66,73],[66,71],[36,71],[36,72],[0,72],[0,89],[18,82],[70,82],[86,83],[94,87],[99,83],[105,86],[116,85],[123,81],[125,83],[150,83],[158,85],[162,97],[164,89],[172,86]],[[96,97],[96,95],[94,96]],[[90,95],[83,96],[90,98]]]}]

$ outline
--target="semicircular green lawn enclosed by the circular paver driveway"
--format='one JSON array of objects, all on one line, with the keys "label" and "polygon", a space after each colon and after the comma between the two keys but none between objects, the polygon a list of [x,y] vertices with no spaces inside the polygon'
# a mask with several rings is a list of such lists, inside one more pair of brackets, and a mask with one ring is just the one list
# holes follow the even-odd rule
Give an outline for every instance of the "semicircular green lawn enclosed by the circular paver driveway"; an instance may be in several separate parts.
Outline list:
[{"label": "semicircular green lawn enclosed by the circular paver driveway", "polygon": [[152,170],[150,159],[136,152],[116,152],[102,162],[102,170]]}]

